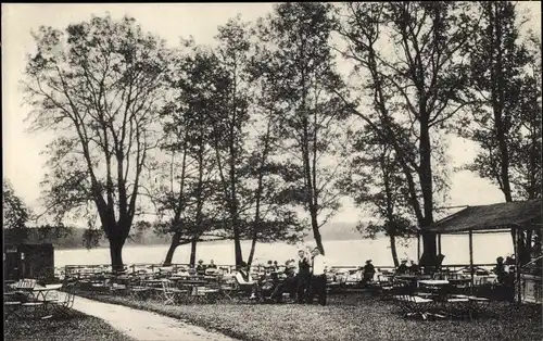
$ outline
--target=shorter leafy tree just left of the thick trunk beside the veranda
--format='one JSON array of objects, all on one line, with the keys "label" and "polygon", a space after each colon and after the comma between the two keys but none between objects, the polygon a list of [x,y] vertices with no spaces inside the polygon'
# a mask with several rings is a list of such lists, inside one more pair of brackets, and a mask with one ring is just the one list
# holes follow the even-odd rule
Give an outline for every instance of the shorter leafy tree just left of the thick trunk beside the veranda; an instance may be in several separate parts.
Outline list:
[{"label": "shorter leafy tree just left of the thick trunk beside the veranda", "polygon": [[368,207],[377,218],[367,225],[361,222],[357,229],[366,238],[374,239],[379,233],[389,237],[392,261],[397,267],[396,238],[413,233],[405,175],[393,147],[370,128],[357,134],[354,149],[351,172],[343,186],[357,206]]}]

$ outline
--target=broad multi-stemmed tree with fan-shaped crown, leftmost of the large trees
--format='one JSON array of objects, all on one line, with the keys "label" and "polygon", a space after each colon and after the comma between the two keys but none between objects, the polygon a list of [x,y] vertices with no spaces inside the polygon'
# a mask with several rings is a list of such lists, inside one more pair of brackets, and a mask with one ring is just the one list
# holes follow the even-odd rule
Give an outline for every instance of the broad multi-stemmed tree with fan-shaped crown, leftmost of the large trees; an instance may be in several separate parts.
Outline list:
[{"label": "broad multi-stemmed tree with fan-shaped crown, leftmost of the large trees", "polygon": [[[54,131],[42,182],[48,212],[89,217],[96,207],[114,270],[144,191],[169,51],[134,18],[93,16],[61,31],[40,27],[24,90],[36,130]],[[93,210],[92,210],[93,211]]]}]

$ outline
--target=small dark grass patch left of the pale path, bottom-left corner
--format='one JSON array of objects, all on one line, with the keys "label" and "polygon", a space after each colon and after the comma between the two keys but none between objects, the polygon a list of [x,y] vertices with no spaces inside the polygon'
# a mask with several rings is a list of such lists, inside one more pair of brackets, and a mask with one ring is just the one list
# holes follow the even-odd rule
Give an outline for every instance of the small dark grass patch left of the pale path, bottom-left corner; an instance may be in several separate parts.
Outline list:
[{"label": "small dark grass patch left of the pale path, bottom-left corner", "polygon": [[[25,314],[22,314],[23,317]],[[50,319],[15,318],[4,321],[8,341],[134,341],[113,329],[105,321],[73,312],[71,317]]]}]

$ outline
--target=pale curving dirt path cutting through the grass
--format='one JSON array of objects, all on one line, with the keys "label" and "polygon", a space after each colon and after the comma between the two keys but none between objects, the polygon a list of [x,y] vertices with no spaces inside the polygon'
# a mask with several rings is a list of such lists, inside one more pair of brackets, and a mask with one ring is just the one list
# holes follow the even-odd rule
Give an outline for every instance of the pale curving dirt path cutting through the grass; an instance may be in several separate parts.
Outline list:
[{"label": "pale curving dirt path cutting through the grass", "polygon": [[224,334],[152,312],[75,298],[74,310],[101,318],[136,340],[235,341]]}]

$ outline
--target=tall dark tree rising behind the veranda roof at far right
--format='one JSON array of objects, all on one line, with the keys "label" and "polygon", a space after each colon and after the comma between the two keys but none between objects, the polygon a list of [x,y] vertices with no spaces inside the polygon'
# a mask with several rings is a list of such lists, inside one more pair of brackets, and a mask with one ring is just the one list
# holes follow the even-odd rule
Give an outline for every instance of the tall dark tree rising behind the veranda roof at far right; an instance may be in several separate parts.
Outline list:
[{"label": "tall dark tree rising behind the veranda roof at far right", "polygon": [[478,9],[481,29],[466,51],[471,63],[471,85],[480,101],[464,121],[469,124],[462,126],[460,134],[481,144],[481,152],[469,168],[496,182],[505,201],[510,202],[515,197],[513,139],[522,118],[528,118],[523,113],[527,97],[534,93],[526,83],[529,55],[519,40],[515,3],[480,2]]}]

